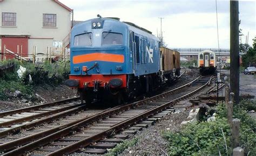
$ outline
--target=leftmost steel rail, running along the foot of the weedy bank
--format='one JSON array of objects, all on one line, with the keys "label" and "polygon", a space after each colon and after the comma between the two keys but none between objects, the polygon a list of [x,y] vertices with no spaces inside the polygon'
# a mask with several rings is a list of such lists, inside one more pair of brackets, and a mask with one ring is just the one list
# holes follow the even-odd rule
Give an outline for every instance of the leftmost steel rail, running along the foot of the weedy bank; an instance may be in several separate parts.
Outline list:
[{"label": "leftmost steel rail, running along the foot of the weedy bank", "polygon": [[0,117],[10,116],[10,115],[12,115],[12,114],[17,114],[17,113],[22,113],[22,112],[28,112],[28,111],[32,111],[32,110],[37,110],[37,109],[39,109],[39,108],[54,106],[54,105],[58,105],[58,104],[61,104],[61,103],[66,103],[66,102],[74,101],[74,100],[78,100],[78,99],[79,99],[79,97],[76,97],[76,98],[69,98],[69,99],[54,101],[54,102],[52,102],[52,103],[47,103],[47,104],[43,104],[43,105],[36,105],[36,106],[31,106],[31,107],[19,108],[19,109],[17,109],[17,110],[11,110],[11,111],[6,111],[6,112],[1,112],[1,113],[0,113]]}]

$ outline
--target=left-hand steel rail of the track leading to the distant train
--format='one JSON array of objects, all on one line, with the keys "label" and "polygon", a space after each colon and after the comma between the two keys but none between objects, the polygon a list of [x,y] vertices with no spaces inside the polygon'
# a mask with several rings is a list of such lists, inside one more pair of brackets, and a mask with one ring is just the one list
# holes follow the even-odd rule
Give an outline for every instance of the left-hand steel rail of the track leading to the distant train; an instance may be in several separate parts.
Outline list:
[{"label": "left-hand steel rail of the track leading to the distant train", "polygon": [[[187,85],[190,85],[193,82],[195,82],[195,80],[192,80],[191,82],[189,82],[189,83],[187,83],[187,84],[185,84],[183,86],[180,86],[177,89],[173,89],[173,90],[167,91],[165,93],[166,93],[166,95],[170,94],[171,92],[180,90],[183,87],[186,87]],[[148,98],[148,99],[140,100],[140,101],[137,101],[135,103],[128,104],[128,105],[116,106],[114,108],[111,108],[109,111],[98,113],[97,115],[92,116],[92,117],[87,118],[87,119],[84,119],[83,121],[80,121],[79,123],[77,123],[75,125],[72,125],[70,127],[66,127],[63,130],[60,130],[60,131],[55,132],[55,133],[52,133],[52,134],[50,134],[50,135],[48,135],[48,136],[46,136],[44,138],[38,139],[36,141],[33,141],[32,143],[26,144],[26,145],[24,145],[22,147],[16,148],[15,150],[7,152],[7,153],[5,153],[3,155],[19,155],[21,153],[25,153],[27,151],[34,150],[38,146],[42,146],[42,145],[48,144],[50,141],[54,141],[54,140],[57,140],[57,139],[59,139],[61,137],[64,137],[65,135],[68,135],[68,134],[70,134],[73,131],[78,131],[79,127],[84,127],[84,126],[90,125],[91,123],[93,123],[95,121],[98,121],[99,119],[104,119],[107,116],[111,116],[111,115],[114,115],[116,113],[119,113],[119,112],[122,112],[122,111],[125,111],[125,110],[129,110],[132,107],[137,107],[139,105],[143,105],[146,101],[156,99],[157,97],[160,98],[161,96],[164,96],[164,93],[159,94],[158,96],[154,96],[154,97],[151,97],[151,98]]]}]

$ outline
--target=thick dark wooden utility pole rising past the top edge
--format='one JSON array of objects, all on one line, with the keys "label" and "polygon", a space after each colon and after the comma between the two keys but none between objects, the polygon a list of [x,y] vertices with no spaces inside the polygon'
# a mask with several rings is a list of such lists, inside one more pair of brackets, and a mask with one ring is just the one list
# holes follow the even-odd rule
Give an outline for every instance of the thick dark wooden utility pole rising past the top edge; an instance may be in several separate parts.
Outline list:
[{"label": "thick dark wooden utility pole rising past the top edge", "polygon": [[239,103],[239,17],[238,1],[230,0],[230,90]]}]

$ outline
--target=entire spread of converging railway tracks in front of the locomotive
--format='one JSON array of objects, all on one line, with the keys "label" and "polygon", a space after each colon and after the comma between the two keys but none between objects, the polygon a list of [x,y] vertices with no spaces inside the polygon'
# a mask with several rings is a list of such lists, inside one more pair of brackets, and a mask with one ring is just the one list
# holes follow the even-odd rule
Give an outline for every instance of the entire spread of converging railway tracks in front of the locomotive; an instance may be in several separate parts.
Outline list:
[{"label": "entire spread of converging railway tracks in front of the locomotive", "polygon": [[104,154],[129,134],[175,111],[178,101],[207,90],[213,79],[199,76],[157,96],[107,109],[86,109],[72,98],[3,112],[0,120],[22,116],[0,123],[0,151],[3,155]]}]

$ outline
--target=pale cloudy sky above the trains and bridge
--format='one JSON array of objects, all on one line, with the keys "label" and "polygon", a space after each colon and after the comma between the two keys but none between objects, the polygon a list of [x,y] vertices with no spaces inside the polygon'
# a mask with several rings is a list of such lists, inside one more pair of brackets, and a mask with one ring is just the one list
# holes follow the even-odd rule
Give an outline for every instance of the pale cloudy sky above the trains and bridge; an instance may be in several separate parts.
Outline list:
[{"label": "pale cloudy sky above the trains and bridge", "polygon": [[[169,48],[218,48],[215,0],[59,0],[74,10],[75,21],[118,17],[156,35],[160,18],[165,43]],[[219,48],[230,48],[230,1],[217,0]],[[256,37],[256,0],[239,1],[241,42],[252,45]]]}]

